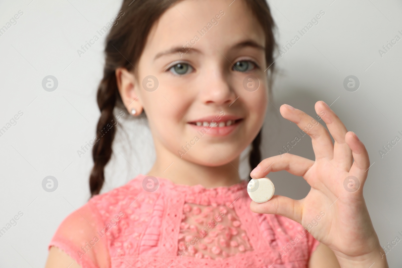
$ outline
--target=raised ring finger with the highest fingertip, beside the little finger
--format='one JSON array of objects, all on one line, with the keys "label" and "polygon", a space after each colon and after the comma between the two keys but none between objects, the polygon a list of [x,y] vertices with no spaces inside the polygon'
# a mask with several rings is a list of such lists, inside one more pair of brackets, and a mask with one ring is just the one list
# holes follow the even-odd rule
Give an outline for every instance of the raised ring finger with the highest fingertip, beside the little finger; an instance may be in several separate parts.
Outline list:
[{"label": "raised ring finger with the highest fingertip, beside the little finger", "polygon": [[334,160],[338,165],[343,166],[345,170],[349,171],[353,163],[353,157],[352,150],[345,141],[347,133],[345,125],[325,102],[316,102],[315,109],[317,115],[320,115],[328,127],[332,138],[334,138]]}]

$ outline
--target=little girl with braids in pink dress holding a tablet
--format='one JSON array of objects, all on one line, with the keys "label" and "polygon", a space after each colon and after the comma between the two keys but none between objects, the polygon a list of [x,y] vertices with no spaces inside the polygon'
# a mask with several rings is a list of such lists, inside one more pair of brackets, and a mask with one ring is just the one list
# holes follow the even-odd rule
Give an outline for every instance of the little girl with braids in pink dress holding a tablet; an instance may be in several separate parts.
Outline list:
[{"label": "little girl with braids in pink dress holding a tablet", "polygon": [[[265,0],[128,0],[121,10],[97,94],[92,198],[58,227],[47,268],[388,267],[363,197],[367,151],[327,104],[315,110],[329,133],[280,107],[311,137],[315,161],[260,162],[275,48]],[[99,194],[119,109],[146,114],[156,161]],[[308,195],[252,201],[238,171],[250,144],[252,178],[287,170]]]}]

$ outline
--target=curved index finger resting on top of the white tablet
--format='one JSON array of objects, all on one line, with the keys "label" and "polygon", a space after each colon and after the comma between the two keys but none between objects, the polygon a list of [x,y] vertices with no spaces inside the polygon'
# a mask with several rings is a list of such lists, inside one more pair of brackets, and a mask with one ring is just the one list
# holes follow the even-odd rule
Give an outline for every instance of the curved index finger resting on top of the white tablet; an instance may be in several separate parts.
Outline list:
[{"label": "curved index finger resting on top of the white tablet", "polygon": [[291,153],[284,153],[261,161],[260,164],[252,170],[250,176],[259,179],[266,176],[269,172],[277,172],[280,170],[286,170],[296,176],[304,176],[313,164],[313,160]]}]

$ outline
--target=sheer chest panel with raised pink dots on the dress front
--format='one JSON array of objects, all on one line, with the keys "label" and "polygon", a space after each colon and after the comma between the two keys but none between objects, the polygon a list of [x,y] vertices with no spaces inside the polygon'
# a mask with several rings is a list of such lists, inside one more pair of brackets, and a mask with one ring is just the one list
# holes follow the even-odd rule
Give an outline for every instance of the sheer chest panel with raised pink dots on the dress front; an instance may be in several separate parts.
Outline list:
[{"label": "sheer chest panel with raised pink dots on the dress front", "polygon": [[216,260],[252,251],[244,226],[228,205],[186,203],[178,235],[178,255]]}]

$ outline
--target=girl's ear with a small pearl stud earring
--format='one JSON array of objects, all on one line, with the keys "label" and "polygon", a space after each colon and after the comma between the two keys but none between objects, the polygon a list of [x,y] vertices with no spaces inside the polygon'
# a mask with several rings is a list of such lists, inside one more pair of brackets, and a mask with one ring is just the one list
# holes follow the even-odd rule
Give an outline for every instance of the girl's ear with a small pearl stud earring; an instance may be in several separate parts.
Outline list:
[{"label": "girl's ear with a small pearl stud earring", "polygon": [[124,106],[129,114],[131,114],[131,109],[135,109],[137,111],[136,115],[140,115],[142,113],[142,103],[137,93],[135,76],[126,68],[117,68],[115,74],[117,88]]}]

